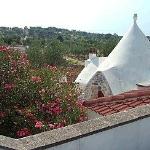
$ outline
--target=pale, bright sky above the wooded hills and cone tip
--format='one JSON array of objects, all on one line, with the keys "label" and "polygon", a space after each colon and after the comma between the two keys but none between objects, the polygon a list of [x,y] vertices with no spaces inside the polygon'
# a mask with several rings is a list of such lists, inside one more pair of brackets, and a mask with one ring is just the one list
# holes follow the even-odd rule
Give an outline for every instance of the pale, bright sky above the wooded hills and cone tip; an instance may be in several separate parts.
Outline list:
[{"label": "pale, bright sky above the wooded hills and cone tip", "polygon": [[123,35],[138,14],[150,35],[150,0],[0,0],[0,26],[58,27]]}]

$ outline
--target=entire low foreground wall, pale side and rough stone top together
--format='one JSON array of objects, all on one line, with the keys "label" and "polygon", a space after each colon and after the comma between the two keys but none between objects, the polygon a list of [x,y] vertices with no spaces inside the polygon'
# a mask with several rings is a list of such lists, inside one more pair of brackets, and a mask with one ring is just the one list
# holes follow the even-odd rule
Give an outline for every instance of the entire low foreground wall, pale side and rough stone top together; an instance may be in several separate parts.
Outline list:
[{"label": "entire low foreground wall, pale side and rough stone top together", "polygon": [[150,150],[150,105],[12,139],[0,136],[0,150]]}]

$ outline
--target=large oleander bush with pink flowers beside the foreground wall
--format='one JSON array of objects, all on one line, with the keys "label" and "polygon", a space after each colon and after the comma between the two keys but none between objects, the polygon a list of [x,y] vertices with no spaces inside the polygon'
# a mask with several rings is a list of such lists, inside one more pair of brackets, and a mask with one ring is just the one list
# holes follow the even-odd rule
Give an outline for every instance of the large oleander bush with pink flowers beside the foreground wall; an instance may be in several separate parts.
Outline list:
[{"label": "large oleander bush with pink flowers beside the foreground wall", "polygon": [[78,92],[65,70],[33,68],[24,52],[0,47],[1,135],[21,138],[86,120]]}]

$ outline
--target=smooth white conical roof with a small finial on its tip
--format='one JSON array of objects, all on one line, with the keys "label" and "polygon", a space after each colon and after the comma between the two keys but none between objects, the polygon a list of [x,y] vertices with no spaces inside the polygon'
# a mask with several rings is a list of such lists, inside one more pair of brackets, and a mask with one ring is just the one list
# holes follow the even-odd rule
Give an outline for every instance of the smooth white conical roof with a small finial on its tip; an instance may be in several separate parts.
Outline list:
[{"label": "smooth white conical roof with a small finial on its tip", "polygon": [[150,80],[150,42],[139,29],[137,15],[108,58],[99,66],[114,94],[128,91],[139,82]]}]

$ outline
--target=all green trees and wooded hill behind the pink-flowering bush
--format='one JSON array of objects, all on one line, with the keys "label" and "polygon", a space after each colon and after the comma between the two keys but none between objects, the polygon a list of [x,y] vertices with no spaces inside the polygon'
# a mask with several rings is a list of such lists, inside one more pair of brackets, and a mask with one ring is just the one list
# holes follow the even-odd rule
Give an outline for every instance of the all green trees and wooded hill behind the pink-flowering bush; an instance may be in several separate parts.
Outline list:
[{"label": "all green trees and wooded hill behind the pink-flowering bush", "polygon": [[107,56],[120,38],[117,34],[96,34],[54,27],[0,27],[0,43],[29,46],[29,58],[37,65],[62,65],[63,56],[85,59],[91,48],[96,49],[99,56]]}]

